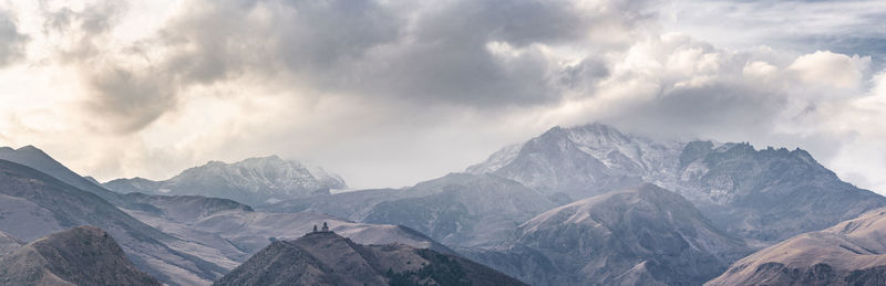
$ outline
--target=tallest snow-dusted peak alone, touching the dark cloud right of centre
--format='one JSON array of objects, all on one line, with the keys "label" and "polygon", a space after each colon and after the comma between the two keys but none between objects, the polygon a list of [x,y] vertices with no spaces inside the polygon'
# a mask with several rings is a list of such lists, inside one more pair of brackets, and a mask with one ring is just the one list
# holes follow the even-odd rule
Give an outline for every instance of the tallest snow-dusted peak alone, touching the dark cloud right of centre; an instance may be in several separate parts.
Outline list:
[{"label": "tallest snow-dusted peak alone, touching the dark cloud right of centre", "polygon": [[602,124],[557,126],[467,171],[495,173],[547,195],[578,200],[643,180],[659,181],[659,170],[676,168],[681,148],[681,144],[656,142]]}]

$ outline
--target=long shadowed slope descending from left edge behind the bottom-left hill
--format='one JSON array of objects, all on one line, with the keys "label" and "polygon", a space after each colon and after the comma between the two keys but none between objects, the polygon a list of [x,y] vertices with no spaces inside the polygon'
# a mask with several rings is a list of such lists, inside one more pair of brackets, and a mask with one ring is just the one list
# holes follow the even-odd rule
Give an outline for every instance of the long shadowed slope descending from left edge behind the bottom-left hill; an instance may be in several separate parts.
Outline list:
[{"label": "long shadowed slope descending from left edge behind the bottom-left hill", "polygon": [[0,231],[24,241],[80,225],[107,230],[140,269],[164,283],[206,284],[227,272],[177,250],[199,245],[164,234],[91,192],[6,160],[0,160]]}]

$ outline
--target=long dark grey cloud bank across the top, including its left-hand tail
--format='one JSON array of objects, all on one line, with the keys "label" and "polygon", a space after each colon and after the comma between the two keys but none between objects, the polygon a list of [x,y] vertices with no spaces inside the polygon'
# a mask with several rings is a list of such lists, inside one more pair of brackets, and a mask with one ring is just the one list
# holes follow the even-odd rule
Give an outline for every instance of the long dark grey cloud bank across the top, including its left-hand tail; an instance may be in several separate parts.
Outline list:
[{"label": "long dark grey cloud bank across the top, including its left-hand tail", "polygon": [[[183,3],[156,34],[113,53],[145,53],[142,66],[99,59],[99,40],[126,10],[97,4],[48,13],[48,31],[80,31],[69,59],[97,65],[89,110],[116,116],[115,131],[136,131],[174,110],[181,91],[247,75],[285,88],[361,99],[450,105],[487,112],[556,104],[563,82],[607,75],[584,59],[559,66],[545,46],[595,45],[591,33],[627,34],[648,19],[643,1],[576,7],[568,1],[229,0]],[[598,29],[599,30],[599,29]],[[491,49],[504,51],[497,54]],[[605,50],[609,47],[599,47]],[[150,55],[150,51],[164,51]],[[89,59],[84,61],[83,59]],[[583,59],[578,59],[579,61]],[[282,80],[280,80],[282,78]],[[593,81],[594,78],[589,78]],[[270,81],[270,80],[268,80]],[[299,95],[306,96],[306,95]],[[114,109],[120,108],[120,109]],[[124,118],[125,116],[125,118]],[[132,118],[128,118],[132,117]]]}]

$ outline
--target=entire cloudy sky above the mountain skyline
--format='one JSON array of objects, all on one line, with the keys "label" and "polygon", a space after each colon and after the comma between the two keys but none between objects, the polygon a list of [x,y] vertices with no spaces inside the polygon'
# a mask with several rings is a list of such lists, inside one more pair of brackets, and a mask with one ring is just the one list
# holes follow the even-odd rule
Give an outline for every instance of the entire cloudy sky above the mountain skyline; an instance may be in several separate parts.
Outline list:
[{"label": "entire cloudy sky above the mountain skyline", "polygon": [[354,188],[555,126],[803,148],[886,193],[886,2],[0,0],[0,145],[100,180],[280,155]]}]

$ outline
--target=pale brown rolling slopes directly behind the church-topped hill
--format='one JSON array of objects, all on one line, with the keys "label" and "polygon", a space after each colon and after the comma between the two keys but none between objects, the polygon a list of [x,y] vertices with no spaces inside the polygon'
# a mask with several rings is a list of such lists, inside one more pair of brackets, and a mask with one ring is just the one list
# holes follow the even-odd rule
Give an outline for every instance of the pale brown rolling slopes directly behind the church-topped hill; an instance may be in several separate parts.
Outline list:
[{"label": "pale brown rolling slopes directly behind the church-topped hill", "polygon": [[[135,202],[123,208],[130,215],[176,239],[205,246],[184,245],[183,252],[234,268],[271,241],[298,237],[312,225],[329,225],[359,243],[403,243],[452,253],[446,246],[400,225],[353,223],[316,213],[264,213],[248,205],[199,195],[147,195],[128,193]],[[177,245],[177,244],[176,244]]]}]

